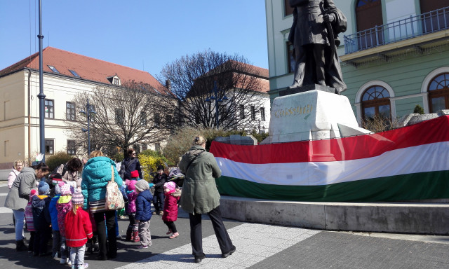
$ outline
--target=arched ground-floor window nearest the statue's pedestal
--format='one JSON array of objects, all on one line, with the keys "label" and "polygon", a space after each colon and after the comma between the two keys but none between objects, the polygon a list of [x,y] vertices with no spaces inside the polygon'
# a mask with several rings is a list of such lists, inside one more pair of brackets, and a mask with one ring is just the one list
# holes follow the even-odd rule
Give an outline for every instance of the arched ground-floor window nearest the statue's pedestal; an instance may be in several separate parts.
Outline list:
[{"label": "arched ground-floor window nearest the statue's pedestal", "polygon": [[390,94],[380,85],[373,85],[362,95],[362,118],[369,120],[375,116],[391,118]]}]

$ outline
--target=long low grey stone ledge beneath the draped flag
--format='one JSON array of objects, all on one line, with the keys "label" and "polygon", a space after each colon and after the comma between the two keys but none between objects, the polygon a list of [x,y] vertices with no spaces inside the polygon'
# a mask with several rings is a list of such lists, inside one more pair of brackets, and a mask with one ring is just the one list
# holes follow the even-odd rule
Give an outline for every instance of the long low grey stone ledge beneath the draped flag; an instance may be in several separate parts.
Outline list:
[{"label": "long low grey stone ledge beneath the draped flag", "polygon": [[449,235],[449,205],[424,202],[289,202],[222,196],[222,216],[322,230]]}]

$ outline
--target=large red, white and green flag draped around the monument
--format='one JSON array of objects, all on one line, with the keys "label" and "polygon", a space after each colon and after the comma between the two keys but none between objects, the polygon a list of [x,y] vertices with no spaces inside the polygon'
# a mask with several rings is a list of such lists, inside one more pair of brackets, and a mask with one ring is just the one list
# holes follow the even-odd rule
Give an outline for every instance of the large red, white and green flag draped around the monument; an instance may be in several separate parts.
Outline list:
[{"label": "large red, white and green flag draped around the monument", "polygon": [[223,195],[291,201],[449,198],[449,116],[339,139],[213,142]]}]

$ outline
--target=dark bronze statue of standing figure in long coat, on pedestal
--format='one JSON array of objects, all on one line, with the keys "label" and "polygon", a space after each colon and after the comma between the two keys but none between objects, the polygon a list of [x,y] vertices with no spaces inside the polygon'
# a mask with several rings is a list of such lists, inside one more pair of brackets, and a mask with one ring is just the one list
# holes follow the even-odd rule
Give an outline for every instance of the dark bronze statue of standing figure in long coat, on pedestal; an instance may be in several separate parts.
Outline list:
[{"label": "dark bronze statue of standing figure in long coat, on pedestal", "polygon": [[333,0],[289,0],[293,25],[288,41],[293,43],[295,81],[289,89],[319,84],[346,90],[336,47],[337,35],[347,29],[347,19]]}]

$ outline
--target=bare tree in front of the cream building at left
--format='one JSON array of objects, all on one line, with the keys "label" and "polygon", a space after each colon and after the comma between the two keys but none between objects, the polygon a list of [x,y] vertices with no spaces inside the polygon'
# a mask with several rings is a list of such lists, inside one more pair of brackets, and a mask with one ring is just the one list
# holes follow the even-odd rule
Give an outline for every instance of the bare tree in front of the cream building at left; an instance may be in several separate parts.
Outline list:
[{"label": "bare tree in front of the cream building at left", "polygon": [[[96,86],[92,92],[74,97],[77,109],[86,108],[87,99],[96,113],[91,113],[91,150],[102,149],[113,154],[136,144],[163,142],[173,127],[177,110],[175,97],[166,88],[125,82],[120,87]],[[86,109],[85,109],[86,110]],[[76,148],[87,151],[86,116],[77,113],[76,120],[67,120],[67,135],[76,141]]]}]

